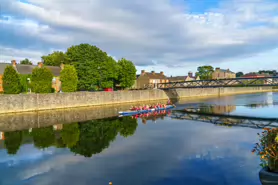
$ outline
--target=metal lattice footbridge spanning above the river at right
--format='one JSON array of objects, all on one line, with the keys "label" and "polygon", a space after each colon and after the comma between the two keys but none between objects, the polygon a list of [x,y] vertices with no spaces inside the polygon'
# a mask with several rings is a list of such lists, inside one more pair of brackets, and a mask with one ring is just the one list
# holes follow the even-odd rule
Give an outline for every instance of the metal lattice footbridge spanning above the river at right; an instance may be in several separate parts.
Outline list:
[{"label": "metal lattice footbridge spanning above the river at right", "polygon": [[219,88],[219,87],[260,87],[278,86],[278,76],[260,78],[229,78],[217,80],[194,80],[168,83],[150,83],[146,89],[172,89],[172,88]]}]

